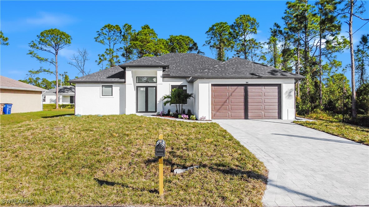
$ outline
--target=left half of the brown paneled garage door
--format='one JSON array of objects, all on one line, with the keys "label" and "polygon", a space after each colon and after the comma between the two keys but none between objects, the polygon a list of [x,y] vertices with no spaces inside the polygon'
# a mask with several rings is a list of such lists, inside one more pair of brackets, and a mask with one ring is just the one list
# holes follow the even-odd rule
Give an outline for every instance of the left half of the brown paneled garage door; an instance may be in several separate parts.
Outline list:
[{"label": "left half of the brown paneled garage door", "polygon": [[245,119],[244,86],[211,86],[212,119]]}]

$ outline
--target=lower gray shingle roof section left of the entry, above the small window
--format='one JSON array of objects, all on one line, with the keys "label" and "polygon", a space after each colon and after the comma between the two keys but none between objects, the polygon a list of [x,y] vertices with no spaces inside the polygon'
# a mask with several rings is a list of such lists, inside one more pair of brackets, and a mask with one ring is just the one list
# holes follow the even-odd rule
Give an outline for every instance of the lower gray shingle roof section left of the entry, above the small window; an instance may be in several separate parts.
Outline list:
[{"label": "lower gray shingle roof section left of the entry, above the small window", "polygon": [[70,83],[124,83],[125,73],[119,66],[97,71],[86,76],[75,78]]}]

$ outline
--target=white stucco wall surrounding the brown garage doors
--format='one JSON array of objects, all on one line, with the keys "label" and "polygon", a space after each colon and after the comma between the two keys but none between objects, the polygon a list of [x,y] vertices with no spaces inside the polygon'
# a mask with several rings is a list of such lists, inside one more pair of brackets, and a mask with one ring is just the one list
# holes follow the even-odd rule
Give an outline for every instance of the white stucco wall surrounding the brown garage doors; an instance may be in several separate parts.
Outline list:
[{"label": "white stucco wall surrounding the brown garage doors", "polygon": [[[199,79],[194,82],[196,88],[195,115],[211,119],[211,84],[280,84],[282,119],[294,119],[294,80],[293,79]],[[247,85],[247,84],[246,84]],[[198,90],[198,92],[197,92]]]}]

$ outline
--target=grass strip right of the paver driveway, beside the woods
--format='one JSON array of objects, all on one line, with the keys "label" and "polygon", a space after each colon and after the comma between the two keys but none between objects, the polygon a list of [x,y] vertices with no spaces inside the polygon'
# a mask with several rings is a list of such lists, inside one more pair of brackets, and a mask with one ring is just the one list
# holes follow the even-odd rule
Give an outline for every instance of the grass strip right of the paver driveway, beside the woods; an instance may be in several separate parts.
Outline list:
[{"label": "grass strip right of the paver driveway, beside the woods", "polygon": [[[327,113],[311,113],[307,116],[301,116],[307,119],[317,120],[316,122],[301,122],[294,123],[306,126],[319,131],[324,131],[328,134],[333,134],[342,138],[346,138],[358,143],[369,145],[369,128],[356,126],[341,122],[339,117],[329,115]],[[342,117],[341,117],[342,119]]]}]

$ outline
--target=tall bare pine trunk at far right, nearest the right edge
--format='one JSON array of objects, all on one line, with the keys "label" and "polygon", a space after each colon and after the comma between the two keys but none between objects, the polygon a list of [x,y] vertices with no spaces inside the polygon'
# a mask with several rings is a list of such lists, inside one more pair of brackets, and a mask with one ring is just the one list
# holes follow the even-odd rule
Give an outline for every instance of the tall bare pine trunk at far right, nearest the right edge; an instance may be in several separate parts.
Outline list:
[{"label": "tall bare pine trunk at far right, nearest the right edge", "polygon": [[356,90],[355,90],[355,60],[354,43],[352,36],[352,18],[354,17],[354,0],[350,0],[350,17],[348,22],[350,37],[350,55],[351,55],[351,93],[352,93],[352,119],[356,119]]}]

